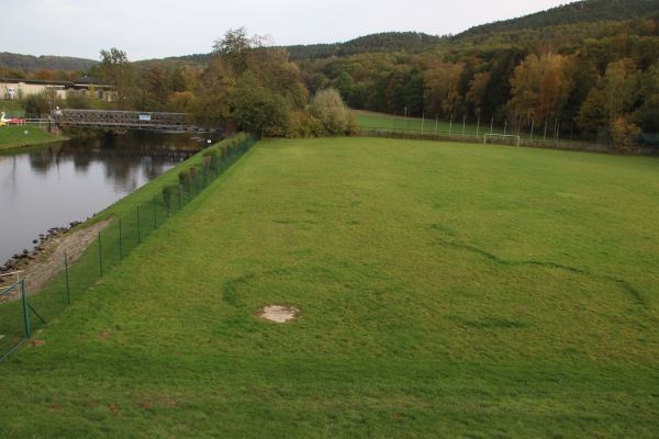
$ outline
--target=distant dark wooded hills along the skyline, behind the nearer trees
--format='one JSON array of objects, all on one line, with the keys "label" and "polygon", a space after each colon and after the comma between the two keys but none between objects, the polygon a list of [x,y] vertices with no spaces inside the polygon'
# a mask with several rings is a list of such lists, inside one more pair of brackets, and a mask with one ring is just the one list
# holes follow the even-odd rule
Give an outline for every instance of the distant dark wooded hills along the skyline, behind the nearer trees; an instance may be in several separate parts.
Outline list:
[{"label": "distant dark wooded hills along the skyline, behind the nearer trees", "polygon": [[[498,21],[471,27],[453,36],[428,35],[421,32],[383,32],[360,36],[345,43],[310,44],[283,46],[291,60],[316,60],[331,57],[346,57],[366,53],[422,53],[438,46],[451,47],[454,52],[462,46],[469,49],[474,45],[511,44],[520,41],[566,40],[579,41],[584,37],[601,36],[600,23],[625,20],[659,20],[659,0],[583,0],[536,12],[522,18]],[[656,26],[655,32],[659,32]],[[608,30],[615,32],[615,29]],[[163,59],[136,61],[138,69],[149,66],[204,66],[211,54],[193,54]],[[31,56],[7,52],[0,53],[0,66],[18,68],[26,74],[40,69],[87,71],[99,61],[76,57]]]}]

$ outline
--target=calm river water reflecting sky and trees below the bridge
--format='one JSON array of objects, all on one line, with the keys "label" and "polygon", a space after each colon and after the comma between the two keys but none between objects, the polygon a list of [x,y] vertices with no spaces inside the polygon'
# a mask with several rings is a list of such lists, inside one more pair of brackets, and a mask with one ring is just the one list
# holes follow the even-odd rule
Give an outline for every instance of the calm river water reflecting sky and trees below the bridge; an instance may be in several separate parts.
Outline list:
[{"label": "calm river water reflecting sky and trees below the bridge", "polygon": [[131,131],[0,155],[0,266],[205,148],[217,133]]}]

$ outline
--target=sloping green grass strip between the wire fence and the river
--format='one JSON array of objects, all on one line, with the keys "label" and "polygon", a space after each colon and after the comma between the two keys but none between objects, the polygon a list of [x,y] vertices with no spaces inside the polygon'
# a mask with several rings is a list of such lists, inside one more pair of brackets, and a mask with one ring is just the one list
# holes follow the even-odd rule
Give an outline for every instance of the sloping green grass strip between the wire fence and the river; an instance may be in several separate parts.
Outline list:
[{"label": "sloping green grass strip between the wire fence and the river", "polygon": [[[232,165],[245,155],[255,144],[254,136],[239,134],[206,148],[175,169],[166,172],[156,180],[120,200],[108,207],[94,218],[88,221],[80,228],[85,228],[100,221],[110,221],[110,224],[97,233],[89,248],[80,260],[70,263],[71,259],[64,254],[55,263],[59,263],[60,273],[36,294],[31,292],[29,302],[45,322],[36,318],[30,325],[38,329],[46,322],[52,322],[71,303],[88,294],[94,284],[102,283],[103,277],[116,269],[122,260],[132,250],[147,239],[154,230],[161,226],[172,215],[176,215],[205,190],[215,179],[226,172]],[[211,157],[214,160],[206,160]],[[222,151],[222,154],[220,154]],[[191,187],[186,191],[178,187],[177,173],[181,169],[200,169]],[[176,187],[175,193],[167,200],[163,195],[163,188]],[[55,259],[54,257],[52,259]],[[30,280],[27,282],[30,288]],[[20,304],[3,303],[0,308],[0,331],[11,330],[12,334],[24,330],[22,323],[18,322],[21,315]],[[0,353],[8,351],[4,348],[11,337],[0,338]]]}]

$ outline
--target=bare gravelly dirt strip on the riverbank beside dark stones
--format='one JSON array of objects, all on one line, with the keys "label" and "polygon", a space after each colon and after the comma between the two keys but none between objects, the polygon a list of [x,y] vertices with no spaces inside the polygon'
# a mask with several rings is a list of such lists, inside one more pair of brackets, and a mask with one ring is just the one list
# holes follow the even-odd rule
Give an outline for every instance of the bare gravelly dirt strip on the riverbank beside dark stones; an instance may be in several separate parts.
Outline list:
[{"label": "bare gravelly dirt strip on the riverbank beside dark stones", "polygon": [[[101,232],[113,218],[100,221],[87,228],[76,232],[69,232],[66,235],[60,235],[53,238],[48,244],[47,257],[40,257],[37,260],[31,261],[26,267],[22,267],[25,278],[25,288],[27,295],[34,294],[51,282],[57,274],[64,271],[64,255],[66,254],[67,263],[74,263],[89,244],[97,239]],[[4,294],[0,296],[0,302],[16,300],[19,292]]]}]

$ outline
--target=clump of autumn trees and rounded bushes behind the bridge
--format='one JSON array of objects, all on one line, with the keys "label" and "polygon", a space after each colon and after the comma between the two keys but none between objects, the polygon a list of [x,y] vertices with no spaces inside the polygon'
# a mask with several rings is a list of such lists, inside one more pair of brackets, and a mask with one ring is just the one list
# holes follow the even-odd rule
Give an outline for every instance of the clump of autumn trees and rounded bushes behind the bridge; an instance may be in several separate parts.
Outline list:
[{"label": "clump of autumn trees and rounded bushes behind the bridge", "polygon": [[125,52],[100,50],[100,63],[87,75],[111,99],[71,92],[65,100],[54,90],[24,99],[26,112],[54,109],[132,110],[188,113],[199,126],[220,127],[227,120],[269,136],[345,135],[356,130],[340,94],[333,89],[310,95],[299,66],[269,38],[249,36],[245,27],[215,41],[203,66],[180,60],[131,63]]}]

